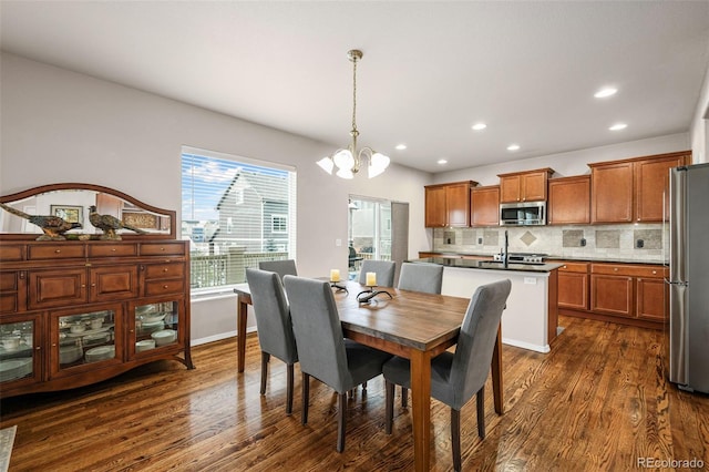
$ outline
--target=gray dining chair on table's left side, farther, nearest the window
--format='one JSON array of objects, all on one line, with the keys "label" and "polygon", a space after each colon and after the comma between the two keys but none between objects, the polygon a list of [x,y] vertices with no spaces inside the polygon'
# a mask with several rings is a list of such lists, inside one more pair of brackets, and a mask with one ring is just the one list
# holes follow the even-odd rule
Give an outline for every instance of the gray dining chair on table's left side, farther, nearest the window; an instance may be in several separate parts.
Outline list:
[{"label": "gray dining chair on table's left side, farther, nearest the window", "polygon": [[278,274],[254,268],[246,269],[246,280],[251,291],[258,343],[261,348],[260,393],[266,393],[270,357],[274,356],[286,362],[286,414],[290,414],[292,412],[294,365],[298,361],[298,350],[284,286]]}]

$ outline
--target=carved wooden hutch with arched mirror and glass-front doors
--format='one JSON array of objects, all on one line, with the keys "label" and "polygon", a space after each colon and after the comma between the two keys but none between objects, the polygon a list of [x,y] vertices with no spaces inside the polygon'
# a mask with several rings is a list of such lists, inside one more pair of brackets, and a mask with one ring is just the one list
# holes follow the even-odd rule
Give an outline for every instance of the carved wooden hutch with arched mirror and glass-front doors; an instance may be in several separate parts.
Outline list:
[{"label": "carved wooden hutch with arched mirror and glass-front doors", "polygon": [[[175,212],[89,184],[48,185],[0,202],[39,215],[66,202],[83,208],[74,213],[83,228],[65,240],[35,240],[35,226],[3,215],[0,397],[81,387],[160,359],[194,367],[189,245],[175,239]],[[113,216],[143,233],[101,239],[90,205],[119,209]]]}]

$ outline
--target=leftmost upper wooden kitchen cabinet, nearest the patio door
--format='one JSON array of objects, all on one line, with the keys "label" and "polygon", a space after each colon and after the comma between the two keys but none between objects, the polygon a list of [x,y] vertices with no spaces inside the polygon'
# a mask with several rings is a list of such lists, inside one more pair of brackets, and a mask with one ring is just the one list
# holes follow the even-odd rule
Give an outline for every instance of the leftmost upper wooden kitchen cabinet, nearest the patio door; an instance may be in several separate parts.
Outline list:
[{"label": "leftmost upper wooden kitchen cabinet, nearest the patio door", "polygon": [[476,182],[427,185],[425,227],[470,226],[470,188]]}]

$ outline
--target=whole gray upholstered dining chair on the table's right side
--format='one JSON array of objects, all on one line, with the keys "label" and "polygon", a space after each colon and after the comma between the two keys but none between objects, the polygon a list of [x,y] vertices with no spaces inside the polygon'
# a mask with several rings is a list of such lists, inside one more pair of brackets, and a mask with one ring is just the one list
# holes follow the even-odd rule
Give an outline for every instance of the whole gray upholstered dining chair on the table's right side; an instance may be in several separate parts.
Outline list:
[{"label": "whole gray upholstered dining chair on the table's right side", "polygon": [[[453,468],[461,470],[461,408],[476,394],[477,434],[485,438],[485,380],[512,283],[508,279],[477,287],[461,325],[455,352],[431,359],[431,397],[451,407]],[[410,388],[409,360],[393,357],[384,363],[387,389],[386,431],[391,434],[394,383]]]}]

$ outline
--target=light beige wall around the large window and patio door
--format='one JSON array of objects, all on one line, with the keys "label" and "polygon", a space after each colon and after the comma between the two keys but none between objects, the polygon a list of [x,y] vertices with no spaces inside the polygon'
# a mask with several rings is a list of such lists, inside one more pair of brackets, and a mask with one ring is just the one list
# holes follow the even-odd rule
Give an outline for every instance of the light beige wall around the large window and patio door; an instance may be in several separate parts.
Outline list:
[{"label": "light beige wall around the large window and patio door", "polygon": [[428,173],[392,165],[374,179],[346,182],[315,164],[332,145],[12,54],[2,53],[0,65],[0,194],[84,182],[178,211],[181,147],[188,145],[297,167],[304,275],[346,271],[349,194],[409,202],[410,256],[430,247]]}]

